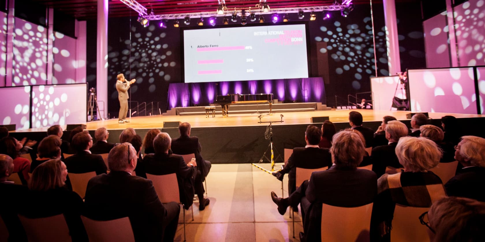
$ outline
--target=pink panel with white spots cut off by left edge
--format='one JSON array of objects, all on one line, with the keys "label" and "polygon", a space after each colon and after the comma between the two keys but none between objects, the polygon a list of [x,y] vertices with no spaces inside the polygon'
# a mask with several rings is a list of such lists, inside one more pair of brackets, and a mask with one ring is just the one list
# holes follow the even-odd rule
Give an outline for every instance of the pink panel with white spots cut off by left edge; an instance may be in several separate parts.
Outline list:
[{"label": "pink panel with white spots cut off by left edge", "polygon": [[16,124],[16,129],[30,128],[30,86],[0,89],[1,124]]}]

